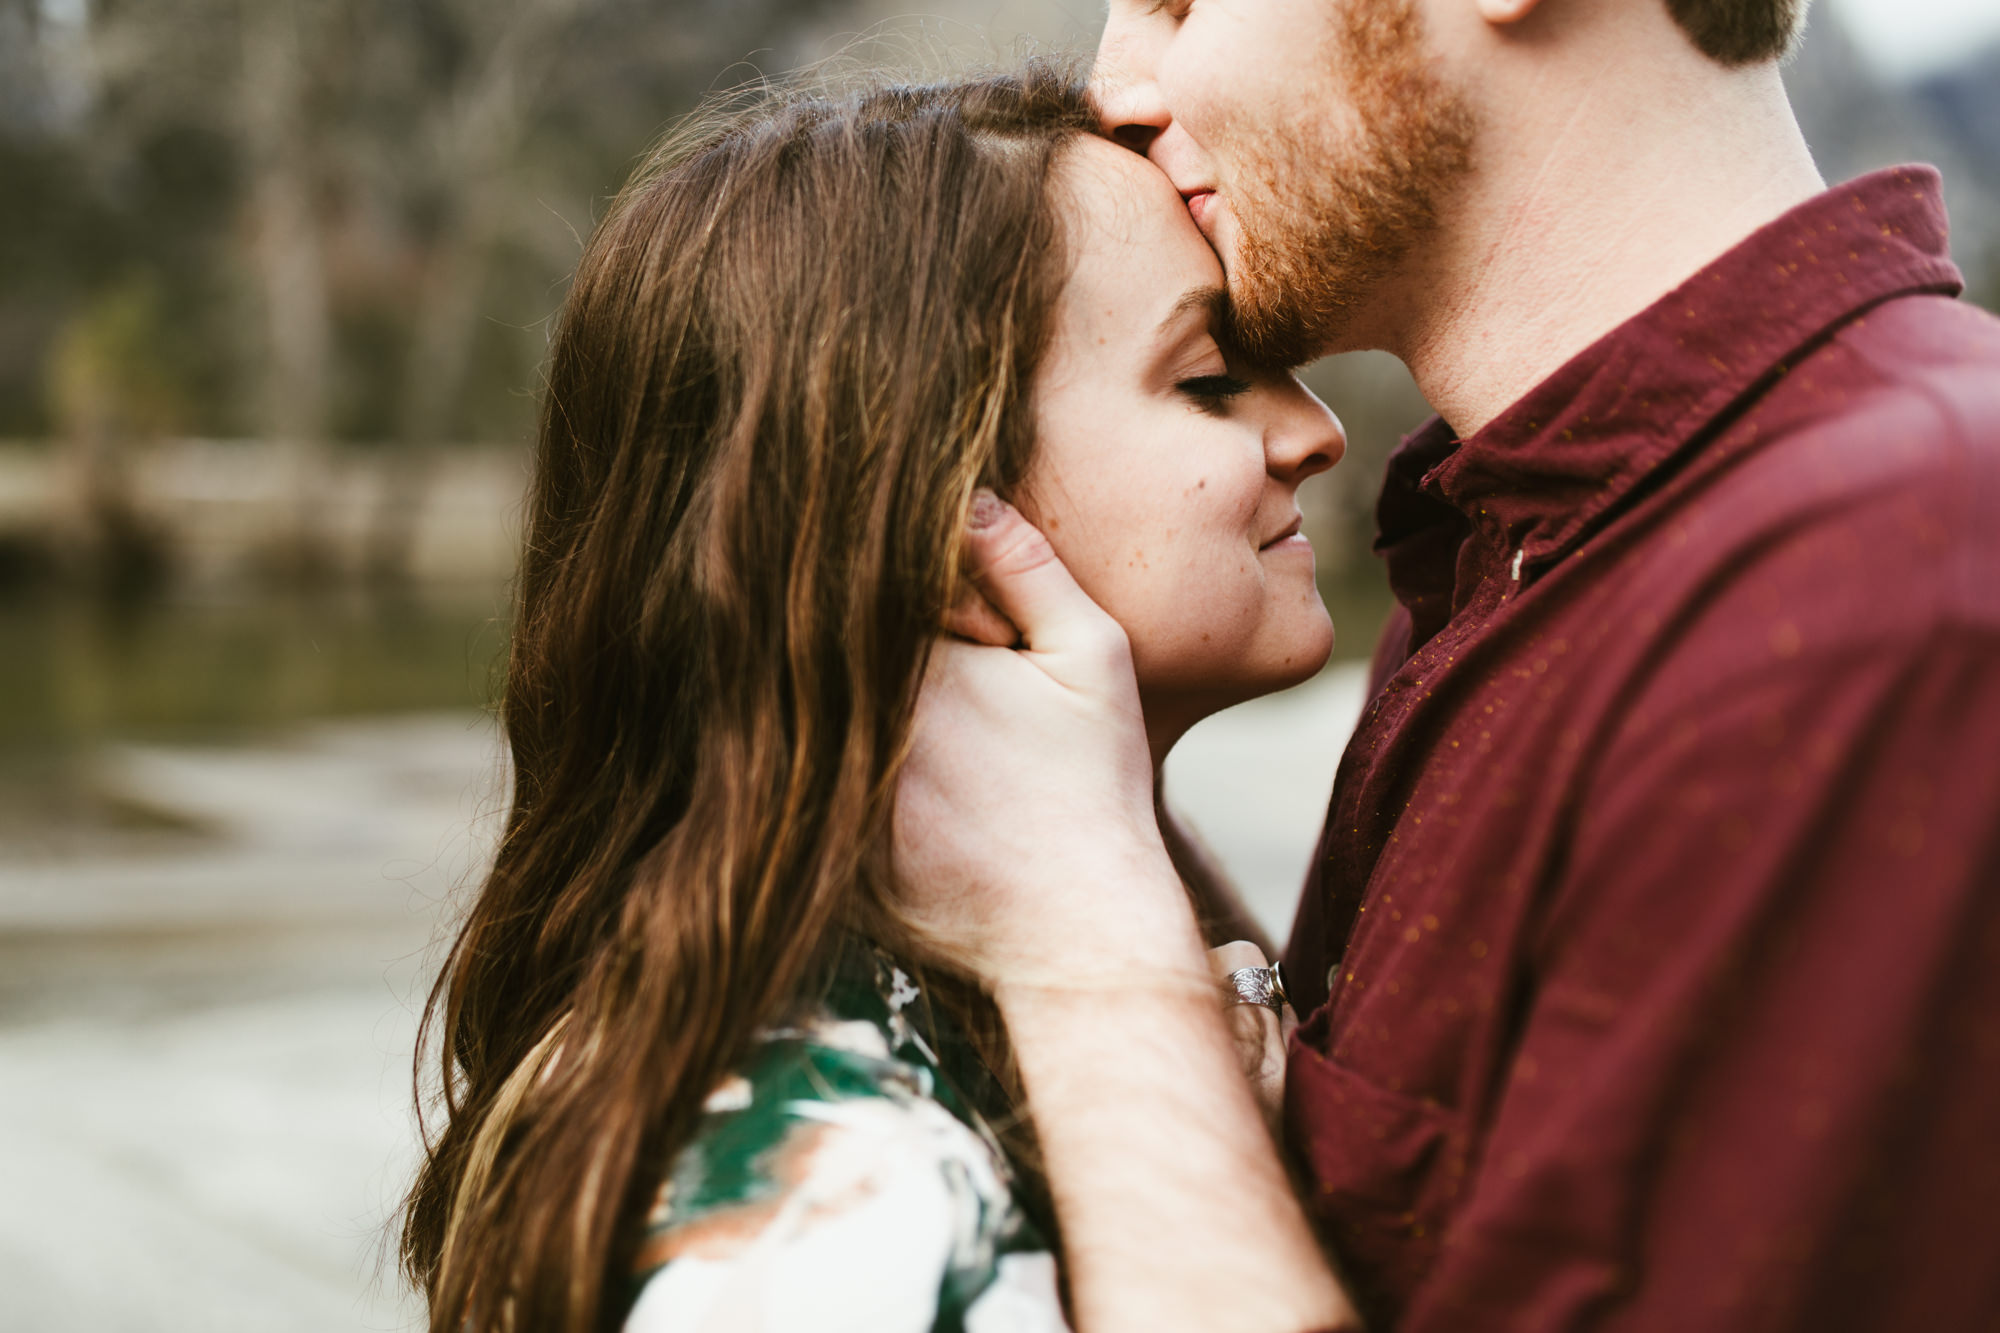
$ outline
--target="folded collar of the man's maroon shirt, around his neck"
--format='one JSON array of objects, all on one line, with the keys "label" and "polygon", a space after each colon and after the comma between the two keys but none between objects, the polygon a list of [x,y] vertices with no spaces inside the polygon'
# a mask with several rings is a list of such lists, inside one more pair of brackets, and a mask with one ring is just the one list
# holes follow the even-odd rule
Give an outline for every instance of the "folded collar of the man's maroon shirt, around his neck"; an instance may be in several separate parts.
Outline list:
[{"label": "folded collar of the man's maroon shirt, around his neck", "polygon": [[[1828,330],[1892,296],[1956,296],[1938,172],[1896,166],[1766,224],[1580,352],[1452,448],[1432,420],[1392,458],[1378,548],[1456,510],[1532,566],[1592,524],[1730,404],[1768,388]],[[1422,468],[1422,472],[1420,472]],[[1420,476],[1412,476],[1420,472]],[[1410,490],[1434,500],[1420,504]],[[1402,494],[1392,494],[1402,490]]]}]

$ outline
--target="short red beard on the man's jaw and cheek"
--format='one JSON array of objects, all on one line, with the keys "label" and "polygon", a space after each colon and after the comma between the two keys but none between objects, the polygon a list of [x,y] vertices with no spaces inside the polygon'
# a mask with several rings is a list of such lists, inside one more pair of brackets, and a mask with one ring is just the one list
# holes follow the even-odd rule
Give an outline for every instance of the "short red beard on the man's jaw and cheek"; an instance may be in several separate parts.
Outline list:
[{"label": "short red beard on the man's jaw and cheek", "polygon": [[1472,112],[1430,70],[1412,0],[1346,0],[1328,78],[1350,134],[1308,108],[1262,138],[1232,190],[1232,332],[1264,364],[1336,346],[1472,164]]}]

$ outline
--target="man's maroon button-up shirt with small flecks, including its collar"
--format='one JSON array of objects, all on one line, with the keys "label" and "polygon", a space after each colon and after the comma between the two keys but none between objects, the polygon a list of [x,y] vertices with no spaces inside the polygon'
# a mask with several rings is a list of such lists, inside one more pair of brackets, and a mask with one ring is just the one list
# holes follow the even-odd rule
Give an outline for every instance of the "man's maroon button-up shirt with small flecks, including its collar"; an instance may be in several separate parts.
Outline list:
[{"label": "man's maroon button-up shirt with small flecks, including its collar", "polygon": [[2000,320],[1956,290],[1936,174],[1878,172],[1394,456],[1288,951],[1288,1139],[1376,1327],[2000,1329]]}]

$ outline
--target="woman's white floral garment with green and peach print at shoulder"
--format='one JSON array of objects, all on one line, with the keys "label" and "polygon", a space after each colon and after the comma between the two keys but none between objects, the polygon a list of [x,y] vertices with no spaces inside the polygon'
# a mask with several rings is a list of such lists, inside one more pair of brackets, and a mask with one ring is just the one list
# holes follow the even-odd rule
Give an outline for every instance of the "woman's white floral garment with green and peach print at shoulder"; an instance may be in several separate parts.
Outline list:
[{"label": "woman's white floral garment with green and peach print at shoulder", "polygon": [[1044,1231],[962,1091],[984,1071],[926,1039],[918,997],[852,949],[826,1001],[710,1093],[646,1219],[626,1333],[1068,1329]]}]

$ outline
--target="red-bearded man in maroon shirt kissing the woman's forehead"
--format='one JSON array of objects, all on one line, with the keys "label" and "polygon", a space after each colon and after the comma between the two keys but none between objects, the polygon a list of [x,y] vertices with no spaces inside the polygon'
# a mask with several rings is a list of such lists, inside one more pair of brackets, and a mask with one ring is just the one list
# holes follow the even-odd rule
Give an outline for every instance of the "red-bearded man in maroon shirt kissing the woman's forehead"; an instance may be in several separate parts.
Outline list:
[{"label": "red-bearded man in maroon shirt kissing the woman's forehead", "polygon": [[1388,348],[1440,420],[1286,955],[1296,1195],[1122,636],[974,516],[1024,648],[940,650],[900,857],[1080,1327],[2000,1327],[2000,322],[1932,172],[1820,182],[1802,8],[1112,0],[1106,130],[1246,350]]}]

